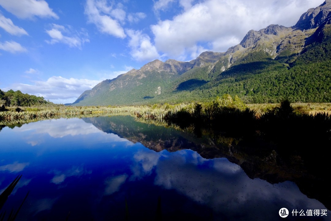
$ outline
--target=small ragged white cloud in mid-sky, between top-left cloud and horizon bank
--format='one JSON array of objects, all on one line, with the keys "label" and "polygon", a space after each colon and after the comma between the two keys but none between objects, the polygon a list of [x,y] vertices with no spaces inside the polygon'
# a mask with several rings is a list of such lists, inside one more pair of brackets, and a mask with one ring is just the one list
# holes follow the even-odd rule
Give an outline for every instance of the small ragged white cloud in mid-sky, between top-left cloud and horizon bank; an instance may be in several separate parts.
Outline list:
[{"label": "small ragged white cloud in mid-sky, between top-left cloud and horizon bank", "polygon": [[52,24],[52,29],[46,30],[46,33],[52,38],[46,40],[49,44],[63,43],[81,49],[82,44],[90,41],[86,31],[77,32],[71,30],[71,27],[65,28],[62,25]]}]

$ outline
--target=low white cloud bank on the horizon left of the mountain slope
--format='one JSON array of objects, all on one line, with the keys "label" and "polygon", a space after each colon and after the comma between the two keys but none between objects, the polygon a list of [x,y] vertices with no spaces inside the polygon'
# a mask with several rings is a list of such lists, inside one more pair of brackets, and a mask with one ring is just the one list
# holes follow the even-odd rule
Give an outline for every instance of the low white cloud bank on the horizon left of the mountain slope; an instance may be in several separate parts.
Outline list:
[{"label": "low white cloud bank on the horizon left of the mountain slope", "polygon": [[34,84],[12,84],[10,88],[36,96],[43,96],[45,99],[56,103],[72,103],[82,92],[92,89],[99,82],[99,80],[67,79],[61,76],[53,76],[47,81],[34,81]]}]

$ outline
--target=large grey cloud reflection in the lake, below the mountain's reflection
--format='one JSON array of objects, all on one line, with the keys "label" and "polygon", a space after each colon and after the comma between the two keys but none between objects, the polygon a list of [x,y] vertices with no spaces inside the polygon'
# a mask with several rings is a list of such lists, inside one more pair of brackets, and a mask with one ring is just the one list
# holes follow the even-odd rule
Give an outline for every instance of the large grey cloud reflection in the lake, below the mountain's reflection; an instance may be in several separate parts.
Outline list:
[{"label": "large grey cloud reflection in the lake, below the mountain's reflection", "polygon": [[[204,159],[191,150],[154,152],[142,150],[134,154],[131,167],[133,178],[142,178],[156,172],[154,184],[176,190],[192,200],[209,206],[217,213],[234,217],[245,213],[255,217],[254,211],[267,215],[274,204],[290,208],[324,208],[317,200],[308,199],[292,182],[269,184],[250,179],[237,164],[225,158]],[[251,213],[251,214],[250,214]]]}]

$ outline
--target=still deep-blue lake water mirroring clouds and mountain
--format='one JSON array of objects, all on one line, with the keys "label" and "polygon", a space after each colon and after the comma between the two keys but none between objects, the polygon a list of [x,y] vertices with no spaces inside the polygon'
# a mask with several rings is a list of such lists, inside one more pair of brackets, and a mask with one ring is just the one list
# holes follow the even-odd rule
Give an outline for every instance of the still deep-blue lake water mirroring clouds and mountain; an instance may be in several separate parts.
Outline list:
[{"label": "still deep-blue lake water mirroring clouds and mountain", "polygon": [[247,175],[208,135],[129,115],[5,126],[0,141],[0,193],[22,175],[0,220],[27,193],[15,220],[280,220],[281,208],[331,220],[294,182]]}]

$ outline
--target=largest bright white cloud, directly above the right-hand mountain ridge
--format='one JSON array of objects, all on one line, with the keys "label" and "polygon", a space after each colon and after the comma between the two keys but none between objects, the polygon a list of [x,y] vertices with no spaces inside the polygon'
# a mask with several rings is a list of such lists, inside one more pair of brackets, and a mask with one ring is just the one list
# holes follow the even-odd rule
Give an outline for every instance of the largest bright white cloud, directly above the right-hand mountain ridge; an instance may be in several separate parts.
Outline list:
[{"label": "largest bright white cloud, directly above the right-hand mountain ridge", "polygon": [[[155,2],[154,9],[169,7],[170,0]],[[152,25],[154,44],[159,53],[172,58],[195,59],[201,50],[223,52],[238,44],[250,30],[270,24],[293,26],[309,7],[320,0],[205,0],[192,5],[180,0],[184,9],[171,20]]]}]

